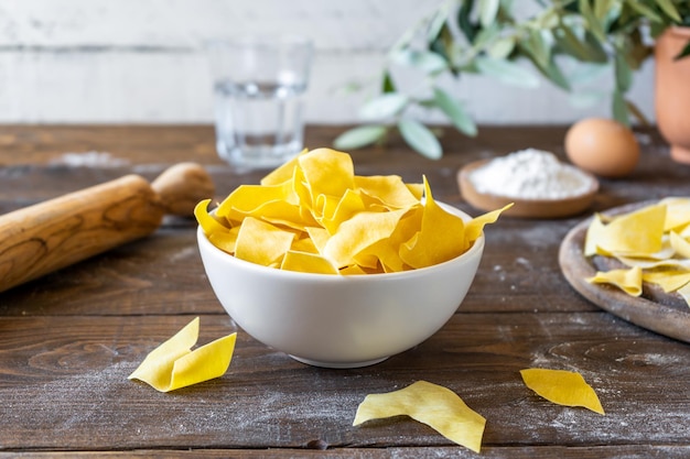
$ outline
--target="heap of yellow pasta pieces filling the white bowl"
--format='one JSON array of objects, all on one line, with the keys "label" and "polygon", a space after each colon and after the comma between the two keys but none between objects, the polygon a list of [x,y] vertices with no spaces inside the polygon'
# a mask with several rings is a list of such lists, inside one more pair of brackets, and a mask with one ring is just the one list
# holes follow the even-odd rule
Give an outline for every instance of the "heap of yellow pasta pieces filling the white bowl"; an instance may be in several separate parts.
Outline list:
[{"label": "heap of yellow pasta pieces filling the white bowl", "polygon": [[464,253],[504,210],[465,222],[434,200],[422,178],[358,176],[347,153],[316,149],[259,185],[239,186],[213,212],[209,199],[200,203],[195,216],[214,245],[266,266],[320,274],[416,270]]}]

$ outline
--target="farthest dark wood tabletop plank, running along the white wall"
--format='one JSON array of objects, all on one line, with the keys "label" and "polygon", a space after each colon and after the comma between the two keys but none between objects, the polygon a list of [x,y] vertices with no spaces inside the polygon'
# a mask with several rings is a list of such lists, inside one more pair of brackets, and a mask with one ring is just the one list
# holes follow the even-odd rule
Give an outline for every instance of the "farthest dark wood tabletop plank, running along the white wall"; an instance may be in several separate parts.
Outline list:
[{"label": "farthest dark wood tabletop plank, running along the white wall", "polygon": [[[309,125],[305,145],[309,149],[330,146],[347,128]],[[477,138],[465,138],[446,129],[442,141],[446,157],[467,154],[490,156],[527,146],[562,152],[564,133],[563,127],[483,127]],[[176,161],[223,164],[215,152],[214,130],[211,125],[6,124],[0,125],[0,164],[6,166],[47,165],[60,162],[65,153],[84,152],[109,153],[130,164],[169,164]],[[400,139],[393,139],[387,147],[377,146],[353,153],[359,160],[388,163],[397,163],[399,156],[403,156],[414,168],[430,163],[419,155],[410,154]]]}]

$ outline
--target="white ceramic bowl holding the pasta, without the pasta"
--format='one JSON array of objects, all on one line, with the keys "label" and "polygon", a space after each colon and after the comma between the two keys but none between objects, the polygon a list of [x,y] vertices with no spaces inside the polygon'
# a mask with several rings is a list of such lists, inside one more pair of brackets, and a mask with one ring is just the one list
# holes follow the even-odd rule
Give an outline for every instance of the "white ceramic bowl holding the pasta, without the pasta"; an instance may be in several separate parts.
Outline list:
[{"label": "white ceramic bowl holding the pasta, without the pasta", "polygon": [[378,363],[431,337],[464,299],[484,251],[482,236],[467,252],[433,266],[339,276],[236,259],[201,228],[197,241],[208,281],[238,326],[301,362],[326,368]]}]

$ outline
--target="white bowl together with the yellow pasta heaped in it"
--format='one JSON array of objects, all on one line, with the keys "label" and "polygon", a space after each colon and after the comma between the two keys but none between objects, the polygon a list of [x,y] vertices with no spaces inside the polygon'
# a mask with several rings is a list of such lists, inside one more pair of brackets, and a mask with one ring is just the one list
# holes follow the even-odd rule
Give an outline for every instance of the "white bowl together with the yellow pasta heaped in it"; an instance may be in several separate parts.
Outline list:
[{"label": "white bowl together with the yellow pasta heaped in it", "polygon": [[471,218],[431,186],[357,176],[305,151],[196,207],[209,283],[257,340],[321,367],[373,364],[438,331],[464,299],[500,210]]}]

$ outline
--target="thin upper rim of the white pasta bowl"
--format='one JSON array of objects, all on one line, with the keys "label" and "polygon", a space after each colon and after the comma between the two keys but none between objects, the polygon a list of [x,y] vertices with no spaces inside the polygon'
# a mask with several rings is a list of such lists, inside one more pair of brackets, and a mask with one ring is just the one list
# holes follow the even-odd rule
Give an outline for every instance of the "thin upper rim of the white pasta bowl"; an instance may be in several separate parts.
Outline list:
[{"label": "thin upper rim of the white pasta bowl", "polygon": [[[436,201],[436,204],[443,207],[446,211],[450,211],[451,214],[462,218],[464,222],[467,222],[473,218],[468,214],[451,205],[440,203],[440,201]],[[212,212],[213,211],[215,211],[215,209],[212,210]],[[399,278],[406,278],[406,277],[416,277],[419,275],[429,274],[436,270],[443,270],[444,267],[452,265],[452,264],[464,263],[466,260],[473,259],[474,256],[482,256],[482,253],[484,251],[484,244],[485,244],[484,232],[482,232],[482,234],[479,234],[479,237],[475,239],[472,247],[470,247],[466,251],[464,251],[463,253],[461,253],[460,255],[451,260],[446,260],[444,262],[436,263],[431,266],[424,266],[424,267],[419,267],[419,269],[409,270],[409,271],[399,271],[399,272],[393,272],[393,273],[343,275],[343,274],[305,273],[305,272],[300,272],[300,271],[279,270],[276,267],[270,267],[270,266],[266,266],[262,264],[257,264],[250,261],[238,259],[235,255],[231,255],[227,253],[226,251],[214,245],[204,233],[201,225],[197,225],[197,228],[196,228],[196,239],[197,239],[197,244],[200,247],[200,250],[206,249],[214,256],[226,259],[228,260],[229,263],[237,263],[239,266],[245,266],[248,270],[256,271],[259,273],[263,272],[269,275],[284,276],[285,278],[290,278],[292,276],[294,278],[300,278],[300,280],[305,280],[305,281],[314,280],[317,282],[376,282],[376,280],[385,281],[385,280],[393,280],[393,278],[399,280]]]}]

